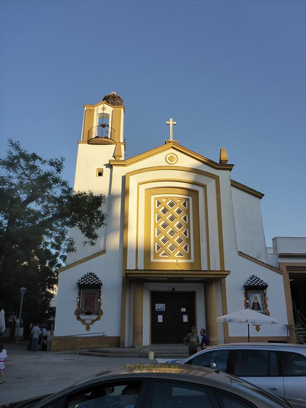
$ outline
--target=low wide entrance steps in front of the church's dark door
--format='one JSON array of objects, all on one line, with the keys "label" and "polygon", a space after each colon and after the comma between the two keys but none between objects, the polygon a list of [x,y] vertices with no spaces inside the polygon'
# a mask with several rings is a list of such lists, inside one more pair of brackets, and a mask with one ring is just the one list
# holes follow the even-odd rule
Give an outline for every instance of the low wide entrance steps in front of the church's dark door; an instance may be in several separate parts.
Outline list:
[{"label": "low wide entrance steps in front of the church's dark door", "polygon": [[[159,359],[187,359],[188,350],[185,346],[173,344],[171,348],[162,348],[162,345],[144,346],[142,348],[90,348],[79,351],[82,355],[93,355],[98,357],[134,357],[148,358],[148,351],[154,351],[154,358]],[[178,347],[179,346],[179,347]]]}]

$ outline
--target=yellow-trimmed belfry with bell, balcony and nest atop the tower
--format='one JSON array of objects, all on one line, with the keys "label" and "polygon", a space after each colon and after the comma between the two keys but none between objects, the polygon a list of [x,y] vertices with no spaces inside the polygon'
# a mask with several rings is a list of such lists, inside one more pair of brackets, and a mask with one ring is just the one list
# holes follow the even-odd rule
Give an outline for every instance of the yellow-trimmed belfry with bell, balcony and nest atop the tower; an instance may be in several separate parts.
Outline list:
[{"label": "yellow-trimmed belfry with bell, balcony and nest atop the tower", "polygon": [[82,142],[115,144],[115,160],[124,160],[124,105],[121,96],[111,92],[95,105],[84,105]]}]

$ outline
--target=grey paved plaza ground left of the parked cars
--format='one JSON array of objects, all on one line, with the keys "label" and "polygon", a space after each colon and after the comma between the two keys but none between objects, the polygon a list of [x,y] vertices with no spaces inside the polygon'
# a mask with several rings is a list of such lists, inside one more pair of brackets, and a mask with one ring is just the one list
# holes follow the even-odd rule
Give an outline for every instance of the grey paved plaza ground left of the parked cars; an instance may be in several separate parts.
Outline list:
[{"label": "grey paved plaza ground left of the parked cars", "polygon": [[106,368],[152,363],[144,358],[97,357],[75,353],[28,351],[28,343],[5,343],[6,382],[0,384],[0,404],[54,393]]}]

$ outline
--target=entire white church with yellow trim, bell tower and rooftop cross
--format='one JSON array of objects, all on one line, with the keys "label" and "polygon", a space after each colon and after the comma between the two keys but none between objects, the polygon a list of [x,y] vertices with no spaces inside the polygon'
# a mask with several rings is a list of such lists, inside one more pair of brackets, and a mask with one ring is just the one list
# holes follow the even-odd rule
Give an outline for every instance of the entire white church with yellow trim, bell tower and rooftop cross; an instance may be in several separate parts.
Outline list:
[{"label": "entire white church with yellow trim, bell tower and rooftop cross", "polygon": [[165,144],[125,159],[120,96],[84,108],[74,190],[106,196],[107,224],[93,247],[70,232],[52,349],[182,343],[192,325],[211,344],[247,341],[246,325],[216,321],[244,308],[279,320],[252,341],[293,341],[286,266],[306,272],[305,239],[283,242],[282,264],[266,248],[263,194],[231,179],[225,149],[214,162],[181,146],[170,119]]}]

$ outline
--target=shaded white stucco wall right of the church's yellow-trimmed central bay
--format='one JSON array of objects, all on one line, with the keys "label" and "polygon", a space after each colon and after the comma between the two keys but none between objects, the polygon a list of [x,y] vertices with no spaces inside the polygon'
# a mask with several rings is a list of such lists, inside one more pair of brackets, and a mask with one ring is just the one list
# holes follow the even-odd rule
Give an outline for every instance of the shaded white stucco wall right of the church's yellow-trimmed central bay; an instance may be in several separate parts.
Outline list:
[{"label": "shaded white stucco wall right of the church's yellow-trimmed central bay", "polygon": [[[227,313],[244,309],[243,285],[250,275],[257,275],[269,285],[267,289],[268,309],[272,317],[279,319],[279,324],[262,325],[259,332],[251,327],[250,335],[254,337],[286,336],[287,311],[282,274],[238,254],[240,250],[253,258],[267,262],[260,200],[231,187],[223,174],[220,177],[220,186],[225,269],[231,271],[225,280]],[[233,200],[231,200],[231,195]],[[247,326],[231,323],[228,325],[228,331],[229,336],[246,336]]]}]

